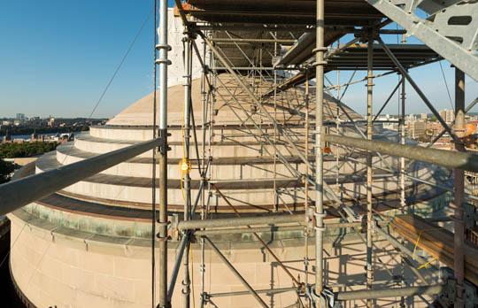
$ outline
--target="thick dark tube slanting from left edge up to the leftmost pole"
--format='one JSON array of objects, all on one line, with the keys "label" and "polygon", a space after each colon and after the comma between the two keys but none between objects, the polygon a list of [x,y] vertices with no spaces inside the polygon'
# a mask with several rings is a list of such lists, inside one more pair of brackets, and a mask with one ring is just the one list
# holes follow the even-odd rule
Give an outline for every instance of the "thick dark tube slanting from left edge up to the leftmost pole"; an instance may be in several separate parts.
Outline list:
[{"label": "thick dark tube slanting from left edge up to the leftmost pole", "polygon": [[64,189],[77,181],[89,178],[147,150],[158,147],[159,144],[159,138],[141,142],[0,185],[0,215],[15,211],[44,196],[49,196],[59,189]]}]

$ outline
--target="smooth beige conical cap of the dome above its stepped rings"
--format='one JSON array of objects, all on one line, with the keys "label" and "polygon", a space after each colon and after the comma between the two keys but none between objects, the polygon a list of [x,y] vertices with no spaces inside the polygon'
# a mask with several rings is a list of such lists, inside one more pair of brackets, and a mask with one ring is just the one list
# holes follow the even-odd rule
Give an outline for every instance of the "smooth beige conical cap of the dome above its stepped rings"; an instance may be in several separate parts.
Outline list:
[{"label": "smooth beige conical cap of the dome above its stepped rings", "polygon": [[[215,91],[214,96],[214,122],[216,125],[221,124],[240,124],[241,117],[246,118],[246,115],[241,110],[242,108],[248,112],[256,110],[255,104],[252,102],[251,97],[243,91],[240,85],[237,84],[233,76],[228,73],[223,73],[216,76],[218,88]],[[203,119],[203,97],[201,95],[201,79],[197,78],[191,81],[191,97],[194,116],[196,123],[201,123]],[[264,89],[270,89],[272,86],[269,81],[259,81],[258,78],[250,78],[248,80],[249,86],[252,91],[255,92],[257,97],[260,97],[260,93],[264,93]],[[262,92],[261,92],[262,91]],[[313,89],[312,89],[313,91]],[[159,90],[157,90],[157,96],[159,96]],[[310,105],[311,105],[311,118],[313,120],[313,105],[315,99],[311,93]],[[293,90],[285,90],[277,94],[275,100],[275,106],[277,107],[276,119],[279,122],[292,123],[294,121],[301,122],[303,118],[298,116],[300,112],[305,112],[304,104],[297,104],[298,102],[304,102],[305,91],[301,88]],[[238,106],[238,102],[241,102],[241,106]],[[274,96],[263,97],[261,102],[270,114],[274,112]],[[157,98],[157,104],[159,104],[159,97]],[[334,97],[328,96],[324,93],[324,120],[335,120],[337,112],[341,114],[341,118],[345,119],[343,112],[339,111],[338,102]],[[342,104],[343,109],[347,110],[352,119],[363,119],[357,112],[354,112]],[[229,108],[230,107],[230,108]],[[181,126],[183,118],[184,108],[184,86],[175,85],[167,90],[167,124],[169,126]],[[286,111],[286,112],[284,112]],[[289,112],[287,112],[289,111]],[[159,113],[157,108],[157,114]],[[252,112],[253,118],[258,123],[269,122],[268,119],[261,115],[260,112]],[[151,126],[153,123],[153,92],[144,96],[140,100],[131,104],[125,110],[120,112],[114,118],[108,121],[108,125],[113,126]],[[157,117],[158,123],[158,117]]]}]

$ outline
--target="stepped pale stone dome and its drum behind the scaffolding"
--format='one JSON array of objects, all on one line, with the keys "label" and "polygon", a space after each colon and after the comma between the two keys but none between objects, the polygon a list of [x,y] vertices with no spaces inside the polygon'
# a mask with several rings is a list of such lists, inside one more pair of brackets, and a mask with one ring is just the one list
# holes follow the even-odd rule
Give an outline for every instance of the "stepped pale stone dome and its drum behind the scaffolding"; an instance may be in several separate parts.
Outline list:
[{"label": "stepped pale stone dome and its drum behind the scaffolding", "polygon": [[[305,121],[300,115],[305,112],[305,91],[301,88],[283,91],[277,96],[261,96],[261,91],[270,85],[261,84],[257,79],[248,82],[251,91],[261,97],[260,104],[274,116],[295,141],[297,150],[305,153],[305,141],[308,145],[308,159],[313,164],[313,127],[309,128],[305,139]],[[193,107],[197,124],[197,145],[200,156],[204,150],[205,160],[209,160],[208,181],[227,196],[227,202],[214,189],[204,194],[204,203],[198,204],[197,213],[204,212],[208,217],[231,217],[232,204],[242,216],[255,216],[263,213],[303,213],[305,200],[313,204],[314,191],[308,186],[305,195],[303,174],[307,166],[297,156],[297,150],[285,142],[281,135],[276,135],[275,127],[263,111],[251,101],[248,93],[236,84],[228,74],[217,76],[218,86],[215,91],[212,115],[203,135],[203,99],[200,93],[200,80],[193,82]],[[266,82],[266,81],[261,81]],[[227,87],[221,86],[227,84]],[[264,87],[263,87],[264,86]],[[144,96],[120,112],[106,125],[90,127],[89,132],[75,135],[73,142],[58,146],[57,150],[44,154],[35,164],[24,167],[17,177],[59,168],[98,154],[125,148],[129,145],[152,138],[152,94]],[[335,121],[337,114],[343,119],[343,112],[337,113],[340,102],[333,97],[324,96],[324,114],[326,121]],[[183,86],[168,89],[168,138],[171,150],[168,152],[168,210],[171,220],[182,217],[183,194],[179,162],[183,155],[182,144],[182,108]],[[310,105],[314,105],[313,93]],[[310,112],[313,122],[313,108]],[[352,119],[362,119],[360,115],[343,105]],[[247,110],[246,117],[243,110]],[[207,118],[211,119],[211,118]],[[252,125],[252,120],[254,125]],[[330,123],[329,123],[330,124]],[[328,125],[329,132],[335,131],[335,122]],[[358,135],[353,126],[343,126],[340,134]],[[203,142],[203,136],[204,141]],[[395,140],[396,135],[376,127],[374,137]],[[274,140],[274,146],[267,140]],[[198,163],[191,140],[191,196],[199,193],[201,177],[197,172]],[[330,146],[331,153],[337,148]],[[276,153],[281,153],[281,159]],[[336,177],[335,156],[324,156],[324,182],[334,191],[343,194],[343,204],[363,214],[360,203],[366,195],[365,162],[366,153],[347,151],[340,154],[352,156],[353,160],[343,164],[340,176]],[[152,218],[152,181],[151,173],[158,165],[152,164],[152,150],[135,158],[97,173],[88,179],[76,182],[61,189],[51,196],[37,200],[32,204],[12,212],[12,238],[15,244],[11,250],[12,277],[19,293],[24,295],[32,306],[48,307],[150,307],[150,243]],[[374,157],[375,164],[381,164]],[[396,158],[385,157],[389,165],[397,164]],[[395,160],[394,160],[395,159]],[[290,168],[292,166],[292,168]],[[412,164],[413,174],[428,181],[440,181],[436,169],[424,164]],[[290,169],[293,169],[292,171]],[[295,171],[294,171],[295,170]],[[390,180],[387,173],[374,173],[374,197],[381,200],[376,211],[390,211],[397,203],[397,181]],[[158,181],[157,181],[158,185]],[[410,189],[412,182],[408,181]],[[158,186],[156,196],[158,196]],[[410,193],[416,201],[436,196],[434,189],[421,189]],[[435,194],[435,195],[434,195]],[[307,198],[307,199],[306,199]],[[158,202],[158,198],[156,199]],[[407,200],[413,204],[413,200]],[[328,211],[326,219],[338,222],[334,202],[325,196]],[[28,227],[26,227],[28,226]],[[286,229],[274,234],[264,233],[264,241],[270,244],[274,253],[281,259],[303,260],[303,229]],[[335,235],[335,229],[328,230],[328,236]],[[331,233],[330,233],[331,232]],[[342,232],[342,231],[340,231]],[[341,238],[343,235],[340,235]],[[290,287],[289,278],[276,273],[277,266],[270,258],[265,258],[263,250],[258,250],[258,243],[250,234],[211,235],[223,253],[235,260],[240,272],[251,273],[251,284],[255,289],[265,288],[270,281],[277,279],[274,287]],[[18,240],[18,241],[17,241]],[[309,238],[312,243],[312,237]],[[342,241],[342,239],[341,239]],[[168,266],[173,267],[178,243],[168,243]],[[345,250],[347,248],[344,248]],[[343,250],[343,251],[345,251]],[[352,248],[351,254],[355,253]],[[227,267],[217,258],[207,261],[207,290],[228,292],[241,289],[234,277],[227,276]],[[343,252],[345,253],[345,252]],[[201,257],[198,243],[191,245],[191,255],[195,260]],[[313,258],[313,255],[311,255]],[[40,261],[39,261],[40,260]],[[290,264],[288,263],[288,266]],[[196,263],[196,269],[198,263]],[[329,265],[330,266],[330,265]],[[336,266],[335,264],[332,266]],[[302,267],[301,267],[302,268]],[[340,270],[336,267],[332,270]],[[348,269],[348,273],[363,273],[362,266]],[[256,273],[258,273],[256,275]],[[278,274],[281,274],[279,280]],[[301,280],[305,277],[302,276]],[[311,278],[309,278],[311,279]],[[181,288],[181,273],[178,278]],[[200,293],[199,283],[192,286]],[[173,303],[180,301],[181,292],[176,291]],[[284,296],[284,304],[294,304],[294,296]],[[238,303],[238,304],[236,304]],[[221,303],[220,306],[243,306],[239,302]],[[253,306],[250,304],[248,306]],[[175,304],[173,304],[175,306]]]}]

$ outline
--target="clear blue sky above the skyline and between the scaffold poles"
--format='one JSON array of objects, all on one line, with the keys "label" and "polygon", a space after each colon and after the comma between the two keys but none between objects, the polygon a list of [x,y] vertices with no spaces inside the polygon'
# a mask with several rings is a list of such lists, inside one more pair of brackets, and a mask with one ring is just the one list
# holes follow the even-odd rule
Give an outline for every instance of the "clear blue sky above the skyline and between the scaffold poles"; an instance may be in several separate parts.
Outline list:
[{"label": "clear blue sky above the skyline and between the scaffold poles", "polygon": [[[0,117],[87,117],[116,66],[152,11],[152,0],[24,0],[0,4]],[[152,16],[93,117],[112,117],[152,90]],[[443,61],[453,98],[454,73]],[[364,73],[357,73],[356,78]],[[342,82],[350,73],[341,73]],[[450,108],[438,64],[412,71],[437,109]],[[335,73],[328,73],[335,82]],[[467,78],[466,103],[478,96]],[[374,83],[378,110],[397,75]],[[344,102],[365,112],[365,83],[351,86]],[[407,112],[427,112],[410,87]],[[397,99],[385,112],[397,112]]]}]

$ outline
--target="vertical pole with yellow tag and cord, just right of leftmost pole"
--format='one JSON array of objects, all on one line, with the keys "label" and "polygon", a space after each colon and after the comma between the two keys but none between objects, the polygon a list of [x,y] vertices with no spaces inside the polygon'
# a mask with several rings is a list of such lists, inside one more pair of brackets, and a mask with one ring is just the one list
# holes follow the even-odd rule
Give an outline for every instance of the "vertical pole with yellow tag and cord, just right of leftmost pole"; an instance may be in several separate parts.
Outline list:
[{"label": "vertical pole with yellow tag and cord, just right of leftmost pole", "polygon": [[[183,157],[181,161],[181,178],[184,189],[184,220],[189,220],[189,211],[191,208],[191,178],[189,176],[190,162],[189,162],[189,134],[190,134],[190,119],[191,119],[191,43],[189,37],[185,36],[183,39],[184,46],[184,119],[183,119]],[[188,236],[188,235],[185,235]],[[190,280],[189,280],[189,239],[182,256],[182,264],[184,271],[184,278],[182,281],[182,296],[184,308],[189,308],[189,294],[190,294]]]}]

